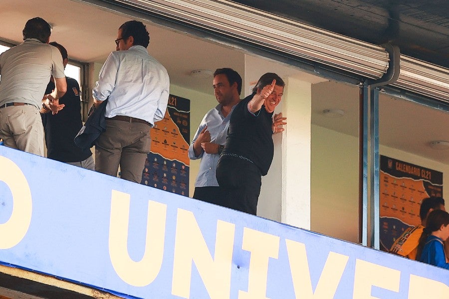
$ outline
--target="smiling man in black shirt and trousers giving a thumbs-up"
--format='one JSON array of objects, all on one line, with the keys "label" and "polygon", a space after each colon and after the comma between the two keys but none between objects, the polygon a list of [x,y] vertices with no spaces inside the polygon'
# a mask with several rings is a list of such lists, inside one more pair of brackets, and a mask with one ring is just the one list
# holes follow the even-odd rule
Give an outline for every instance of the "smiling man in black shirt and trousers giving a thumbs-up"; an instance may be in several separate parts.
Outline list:
[{"label": "smiling man in black shirt and trousers giving a thumbs-up", "polygon": [[227,196],[227,207],[256,215],[261,176],[274,154],[272,135],[284,131],[286,118],[274,115],[282,99],[284,81],[274,74],[260,77],[252,94],[235,106],[225,149],[217,165],[217,181]]}]

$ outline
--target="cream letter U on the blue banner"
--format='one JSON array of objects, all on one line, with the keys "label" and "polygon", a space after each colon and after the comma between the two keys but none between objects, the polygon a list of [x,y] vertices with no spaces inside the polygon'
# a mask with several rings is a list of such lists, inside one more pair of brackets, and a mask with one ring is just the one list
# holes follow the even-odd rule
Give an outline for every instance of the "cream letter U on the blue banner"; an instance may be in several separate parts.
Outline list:
[{"label": "cream letter U on the blue banner", "polygon": [[159,274],[164,258],[167,205],[149,200],[145,253],[133,261],[128,253],[130,195],[112,190],[109,224],[109,255],[117,275],[135,287],[151,284]]}]

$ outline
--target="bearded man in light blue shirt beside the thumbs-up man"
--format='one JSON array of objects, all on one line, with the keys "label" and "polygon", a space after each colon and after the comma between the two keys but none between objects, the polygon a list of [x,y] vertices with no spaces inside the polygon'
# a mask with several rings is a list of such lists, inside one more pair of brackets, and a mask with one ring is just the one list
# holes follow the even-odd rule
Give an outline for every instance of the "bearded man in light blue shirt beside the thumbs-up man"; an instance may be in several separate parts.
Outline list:
[{"label": "bearded man in light blue shirt beside the thumbs-up man", "polygon": [[219,104],[204,116],[189,147],[190,159],[201,158],[193,198],[226,206],[216,170],[220,153],[224,149],[232,110],[240,102],[241,77],[233,69],[217,69],[213,88]]}]

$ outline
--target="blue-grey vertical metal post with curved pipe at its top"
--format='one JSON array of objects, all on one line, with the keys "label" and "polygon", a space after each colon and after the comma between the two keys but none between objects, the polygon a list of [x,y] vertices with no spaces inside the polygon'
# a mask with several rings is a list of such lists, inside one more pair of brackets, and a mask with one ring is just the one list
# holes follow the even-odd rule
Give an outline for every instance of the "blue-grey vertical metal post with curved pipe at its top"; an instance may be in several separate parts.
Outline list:
[{"label": "blue-grey vertical metal post with curved pipe at its top", "polygon": [[[366,80],[359,84],[359,243],[368,245],[368,144],[371,154],[370,207],[371,247],[380,249],[379,232],[379,88],[395,82],[401,70],[398,46],[382,45],[390,61],[384,76],[377,80]],[[371,101],[368,101],[370,94]],[[370,106],[368,106],[370,103]],[[370,109],[368,110],[368,107]],[[369,123],[368,123],[369,118]],[[368,124],[370,132],[368,131]],[[368,139],[368,133],[369,139]]]}]

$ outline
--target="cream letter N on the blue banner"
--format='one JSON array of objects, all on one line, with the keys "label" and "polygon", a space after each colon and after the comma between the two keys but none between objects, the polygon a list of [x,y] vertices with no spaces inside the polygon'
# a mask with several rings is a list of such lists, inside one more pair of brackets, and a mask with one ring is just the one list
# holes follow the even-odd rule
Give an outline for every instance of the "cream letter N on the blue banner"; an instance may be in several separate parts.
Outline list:
[{"label": "cream letter N on the blue banner", "polygon": [[192,262],[211,299],[230,296],[235,224],[217,221],[214,259],[191,211],[178,209],[173,262],[172,294],[190,298]]}]

